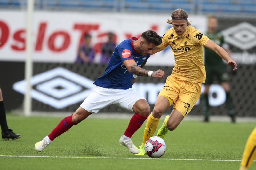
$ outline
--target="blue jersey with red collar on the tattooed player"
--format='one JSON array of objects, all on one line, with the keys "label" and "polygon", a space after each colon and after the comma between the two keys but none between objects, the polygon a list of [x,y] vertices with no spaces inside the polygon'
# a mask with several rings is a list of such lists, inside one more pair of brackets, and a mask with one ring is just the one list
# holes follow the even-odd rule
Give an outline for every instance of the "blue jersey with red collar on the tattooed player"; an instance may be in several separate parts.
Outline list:
[{"label": "blue jersey with red collar on the tattooed player", "polygon": [[105,73],[94,81],[95,85],[113,89],[129,89],[132,87],[133,74],[129,73],[123,64],[124,60],[135,60],[137,66],[141,66],[150,57],[150,54],[143,57],[134,50],[133,41],[136,40],[138,38],[132,37],[116,46]]}]

